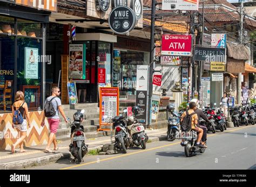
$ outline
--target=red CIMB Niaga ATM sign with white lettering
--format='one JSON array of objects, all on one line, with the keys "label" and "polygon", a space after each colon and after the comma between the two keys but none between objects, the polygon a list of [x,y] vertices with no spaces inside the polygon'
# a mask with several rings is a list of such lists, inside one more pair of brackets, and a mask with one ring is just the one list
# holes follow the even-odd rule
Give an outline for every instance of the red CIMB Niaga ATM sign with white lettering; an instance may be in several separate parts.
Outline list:
[{"label": "red CIMB Niaga ATM sign with white lettering", "polygon": [[191,56],[192,35],[164,34],[161,55]]}]

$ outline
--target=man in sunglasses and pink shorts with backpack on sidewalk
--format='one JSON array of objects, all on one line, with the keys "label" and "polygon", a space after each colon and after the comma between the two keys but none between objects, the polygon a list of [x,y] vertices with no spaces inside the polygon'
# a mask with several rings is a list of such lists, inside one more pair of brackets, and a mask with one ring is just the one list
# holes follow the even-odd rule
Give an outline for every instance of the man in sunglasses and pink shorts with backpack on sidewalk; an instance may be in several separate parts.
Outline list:
[{"label": "man in sunglasses and pink shorts with backpack on sidewalk", "polygon": [[[53,142],[54,150],[58,150],[57,141],[56,141],[56,133],[59,126],[59,113],[62,115],[62,117],[65,119],[65,122],[68,123],[68,120],[66,119],[65,113],[62,109],[62,102],[58,98],[60,95],[60,90],[58,87],[52,87],[51,89],[52,95],[45,100],[45,109],[44,109],[44,116],[41,126],[44,126],[44,119],[45,116],[48,119],[49,128],[50,128],[50,136],[48,140],[48,145],[45,148],[45,153],[52,153],[52,150],[50,149],[51,143]],[[47,105],[47,106],[46,106]],[[50,106],[50,107],[49,107]],[[48,109],[46,109],[48,107]],[[49,109],[52,109],[52,113],[49,114]],[[47,113],[46,113],[47,112]]]}]

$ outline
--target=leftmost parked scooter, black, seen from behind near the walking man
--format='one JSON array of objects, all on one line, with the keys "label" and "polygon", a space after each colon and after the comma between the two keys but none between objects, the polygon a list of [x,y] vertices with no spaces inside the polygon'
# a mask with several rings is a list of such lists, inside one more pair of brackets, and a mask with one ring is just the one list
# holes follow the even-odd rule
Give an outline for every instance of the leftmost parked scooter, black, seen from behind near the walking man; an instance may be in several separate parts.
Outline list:
[{"label": "leftmost parked scooter, black, seen from behind near the walking man", "polygon": [[84,155],[88,152],[88,145],[85,145],[84,127],[81,125],[83,119],[86,119],[84,110],[76,112],[73,115],[73,123],[68,119],[71,124],[71,144],[69,151],[74,157],[71,162],[82,162]]}]

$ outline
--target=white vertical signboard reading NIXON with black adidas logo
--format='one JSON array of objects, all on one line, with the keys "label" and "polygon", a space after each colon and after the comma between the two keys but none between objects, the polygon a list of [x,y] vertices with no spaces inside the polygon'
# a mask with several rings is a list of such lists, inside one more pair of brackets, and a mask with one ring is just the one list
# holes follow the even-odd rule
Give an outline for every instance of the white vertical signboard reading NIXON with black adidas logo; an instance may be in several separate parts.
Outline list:
[{"label": "white vertical signboard reading NIXON with black adidas logo", "polygon": [[147,90],[147,74],[149,67],[147,65],[137,65],[137,83],[136,90]]}]

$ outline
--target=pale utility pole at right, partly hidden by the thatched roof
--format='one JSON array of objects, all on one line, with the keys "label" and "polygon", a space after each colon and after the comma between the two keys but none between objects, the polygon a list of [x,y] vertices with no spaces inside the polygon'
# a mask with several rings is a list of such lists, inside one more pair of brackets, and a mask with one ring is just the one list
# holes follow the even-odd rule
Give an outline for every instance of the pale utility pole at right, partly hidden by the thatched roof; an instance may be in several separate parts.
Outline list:
[{"label": "pale utility pole at right, partly hidden by the thatched roof", "polygon": [[[243,44],[244,42],[244,0],[241,0],[241,6],[240,6],[240,32],[239,32],[239,39],[240,44]],[[242,73],[238,74],[238,80],[237,80],[237,103],[238,105],[241,104],[241,92],[242,92]]]}]

